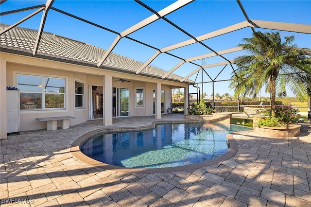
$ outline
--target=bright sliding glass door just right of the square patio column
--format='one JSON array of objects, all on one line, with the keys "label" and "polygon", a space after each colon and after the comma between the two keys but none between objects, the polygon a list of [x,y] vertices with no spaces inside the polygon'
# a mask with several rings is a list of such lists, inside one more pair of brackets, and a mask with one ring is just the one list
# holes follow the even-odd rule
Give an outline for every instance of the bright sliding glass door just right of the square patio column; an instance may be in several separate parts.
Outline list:
[{"label": "bright sliding glass door just right of the square patio column", "polygon": [[130,89],[116,88],[116,117],[130,116]]}]

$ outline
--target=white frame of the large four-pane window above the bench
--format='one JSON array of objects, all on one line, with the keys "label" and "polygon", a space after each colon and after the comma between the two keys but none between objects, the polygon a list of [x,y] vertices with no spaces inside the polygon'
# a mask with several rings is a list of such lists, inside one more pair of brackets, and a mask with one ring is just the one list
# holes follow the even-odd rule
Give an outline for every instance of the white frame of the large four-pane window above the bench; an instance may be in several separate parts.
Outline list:
[{"label": "white frame of the large four-pane window above the bench", "polygon": [[[44,74],[44,75],[38,75],[38,74],[34,74],[34,73],[28,73],[28,72],[18,72],[18,71],[13,71],[14,76],[16,77],[16,79],[14,80],[14,85],[18,86],[17,83],[17,76],[18,75],[24,75],[24,76],[35,76],[35,77],[40,77],[41,78],[41,83],[44,84],[45,83],[45,78],[55,78],[55,79],[64,79],[65,80],[65,91],[64,93],[53,93],[53,92],[45,92],[44,87],[42,87],[42,91],[41,92],[33,92],[33,91],[20,91],[20,93],[38,93],[41,94],[41,108],[35,108],[35,109],[21,109],[20,112],[26,112],[26,113],[33,113],[35,111],[56,111],[56,110],[60,110],[60,111],[68,111],[67,109],[67,103],[68,103],[68,77],[59,77],[59,76],[53,76],[53,75],[49,75],[49,74]],[[63,108],[46,108],[45,107],[45,95],[46,94],[64,94],[64,107]]]}]

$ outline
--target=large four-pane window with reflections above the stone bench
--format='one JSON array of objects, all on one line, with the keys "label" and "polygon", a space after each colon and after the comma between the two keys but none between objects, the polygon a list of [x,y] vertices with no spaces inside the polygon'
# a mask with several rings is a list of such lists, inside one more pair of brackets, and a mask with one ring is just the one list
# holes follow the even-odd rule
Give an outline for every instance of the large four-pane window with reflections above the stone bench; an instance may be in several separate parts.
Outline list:
[{"label": "large four-pane window with reflections above the stone bench", "polygon": [[17,75],[20,109],[64,109],[65,79],[34,75]]}]

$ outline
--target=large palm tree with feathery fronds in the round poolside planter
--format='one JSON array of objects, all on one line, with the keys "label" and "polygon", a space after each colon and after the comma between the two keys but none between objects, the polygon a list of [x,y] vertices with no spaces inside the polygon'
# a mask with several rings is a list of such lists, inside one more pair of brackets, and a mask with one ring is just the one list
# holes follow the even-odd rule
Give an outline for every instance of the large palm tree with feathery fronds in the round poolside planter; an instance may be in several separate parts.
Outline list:
[{"label": "large palm tree with feathery fronds in the round poolside planter", "polygon": [[250,55],[234,60],[237,69],[232,72],[230,86],[235,89],[235,96],[256,96],[265,86],[265,91],[270,93],[273,115],[276,95],[286,97],[286,86],[300,101],[307,100],[308,83],[311,82],[310,50],[293,45],[294,36],[286,36],[282,41],[278,32],[255,32],[243,41],[245,43],[239,46]]}]

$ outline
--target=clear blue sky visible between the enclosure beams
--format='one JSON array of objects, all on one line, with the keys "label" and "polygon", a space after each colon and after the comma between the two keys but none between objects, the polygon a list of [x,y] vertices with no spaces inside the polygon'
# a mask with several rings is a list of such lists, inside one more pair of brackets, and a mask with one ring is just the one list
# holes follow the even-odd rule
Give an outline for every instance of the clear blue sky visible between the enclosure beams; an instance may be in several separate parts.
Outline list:
[{"label": "clear blue sky visible between the enclosure beams", "polygon": [[[1,12],[4,12],[44,4],[45,2],[45,0],[7,0],[1,4],[0,9]],[[153,8],[155,11],[160,11],[174,1],[142,0],[142,2]],[[311,25],[310,0],[242,0],[241,2],[250,19]],[[152,15],[150,11],[133,0],[55,0],[52,6],[118,33],[121,33],[127,28]],[[20,18],[23,18],[34,11],[35,10],[31,10],[1,16],[1,23],[13,24]],[[42,13],[39,13],[19,26],[38,29],[41,16]],[[235,0],[197,0],[167,15],[166,18],[195,37],[245,21],[245,17]],[[258,30],[262,32],[271,31],[255,29],[255,31]],[[112,41],[116,38],[116,35],[113,33],[96,28],[72,17],[65,16],[54,10],[49,11],[44,31],[86,42],[103,49],[108,49]],[[298,47],[311,48],[311,35],[284,31],[279,32],[283,36],[294,35],[296,40],[294,44]],[[203,41],[203,43],[214,51],[225,50],[236,47],[239,43],[242,43],[243,37],[249,37],[251,36],[251,33],[252,30],[250,28],[244,28],[225,35],[207,39]],[[159,19],[129,36],[158,49],[190,39],[188,35],[183,34],[163,19]],[[156,51],[127,38],[122,38],[114,48],[113,52],[145,62]],[[198,43],[169,52],[184,59],[211,53],[210,50]],[[243,52],[233,52],[225,54],[224,56],[229,60],[233,60],[235,57],[242,54]],[[151,65],[168,71],[180,61],[180,59],[171,55],[161,53]],[[220,57],[212,57],[204,60],[197,60],[195,63],[204,65],[223,61],[225,60]],[[197,66],[186,63],[175,70],[174,73],[186,76],[196,68]],[[216,77],[215,80],[230,79],[232,69],[229,66],[225,67],[225,69],[223,68],[224,66],[213,67],[206,69],[206,71],[212,79],[215,79]],[[219,74],[222,69],[223,72]],[[197,78],[197,80],[201,82],[201,75],[201,72],[198,75],[194,74],[190,79],[195,80],[195,78]],[[203,81],[210,81],[210,79],[204,75]],[[214,86],[215,94],[233,94],[233,90],[229,90],[228,88],[228,81],[216,82]],[[208,95],[212,93],[211,84],[204,84],[203,88],[204,92]],[[264,93],[262,95],[268,96]],[[289,95],[291,95],[291,93],[289,93]]]}]

